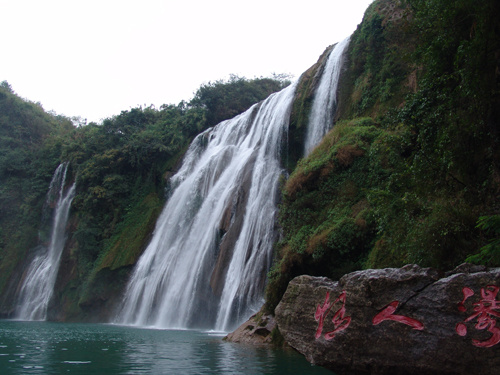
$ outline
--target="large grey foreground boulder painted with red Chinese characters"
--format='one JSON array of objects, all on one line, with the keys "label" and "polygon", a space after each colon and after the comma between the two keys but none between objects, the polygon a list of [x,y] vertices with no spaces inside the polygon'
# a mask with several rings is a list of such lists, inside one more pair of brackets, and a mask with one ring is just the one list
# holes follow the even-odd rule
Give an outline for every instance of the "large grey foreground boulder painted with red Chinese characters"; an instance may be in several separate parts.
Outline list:
[{"label": "large grey foreground boulder painted with red Chinese characters", "polygon": [[500,269],[415,265],[299,276],[277,306],[290,346],[343,374],[498,374]]}]

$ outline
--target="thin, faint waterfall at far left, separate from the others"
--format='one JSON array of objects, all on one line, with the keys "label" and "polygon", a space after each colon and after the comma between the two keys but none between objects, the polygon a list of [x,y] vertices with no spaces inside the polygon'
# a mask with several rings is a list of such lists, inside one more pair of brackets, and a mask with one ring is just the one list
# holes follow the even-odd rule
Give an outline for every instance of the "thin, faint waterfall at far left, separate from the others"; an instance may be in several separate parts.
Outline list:
[{"label": "thin, faint waterfall at far left, separate from the others", "polygon": [[71,201],[75,195],[75,184],[64,191],[68,163],[59,165],[50,183],[46,206],[55,203],[50,241],[48,246],[39,246],[31,262],[24,283],[18,294],[16,318],[21,320],[45,320],[47,306],[54,291],[61,254],[66,242],[66,223]]}]

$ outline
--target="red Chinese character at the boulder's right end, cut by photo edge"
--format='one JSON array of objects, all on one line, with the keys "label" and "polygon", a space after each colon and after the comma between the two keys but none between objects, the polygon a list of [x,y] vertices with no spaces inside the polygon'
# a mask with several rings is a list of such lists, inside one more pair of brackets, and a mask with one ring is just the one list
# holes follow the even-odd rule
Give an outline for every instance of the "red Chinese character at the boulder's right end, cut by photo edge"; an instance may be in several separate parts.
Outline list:
[{"label": "red Chinese character at the boulder's right end, cut by photo edge", "polygon": [[[474,314],[465,319],[462,323],[458,323],[455,330],[460,336],[467,335],[467,326],[465,323],[473,321],[477,318],[477,323],[474,328],[478,330],[487,329],[491,332],[491,337],[487,340],[476,340],[472,339],[472,344],[481,348],[490,348],[500,342],[500,328],[496,326],[496,318],[500,318],[500,301],[497,301],[496,297],[499,291],[499,287],[495,285],[488,285],[485,288],[481,288],[481,299],[479,302],[472,304]],[[470,288],[463,288],[462,293],[464,298],[458,304],[458,310],[465,312],[465,301],[474,295],[474,291]]]}]

